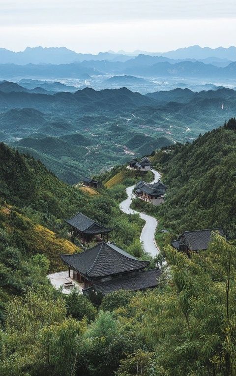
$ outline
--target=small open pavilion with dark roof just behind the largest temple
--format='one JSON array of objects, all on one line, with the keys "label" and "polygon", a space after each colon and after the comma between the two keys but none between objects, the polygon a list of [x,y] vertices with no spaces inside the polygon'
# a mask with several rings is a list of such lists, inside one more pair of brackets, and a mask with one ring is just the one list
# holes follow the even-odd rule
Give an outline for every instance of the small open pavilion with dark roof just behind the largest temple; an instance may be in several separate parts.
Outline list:
[{"label": "small open pavilion with dark roof just behind the largest temple", "polygon": [[105,240],[106,236],[108,241],[108,233],[113,230],[82,213],[76,214],[71,219],[66,219],[66,223],[70,225],[71,235],[80,237],[84,244],[89,243],[96,235],[100,235],[99,240]]}]

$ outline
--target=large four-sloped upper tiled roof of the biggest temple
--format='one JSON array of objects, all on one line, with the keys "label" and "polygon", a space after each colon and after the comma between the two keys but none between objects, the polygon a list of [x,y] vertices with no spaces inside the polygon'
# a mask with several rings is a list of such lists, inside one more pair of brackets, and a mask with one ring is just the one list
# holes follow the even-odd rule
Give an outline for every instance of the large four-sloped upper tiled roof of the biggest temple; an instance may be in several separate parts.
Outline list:
[{"label": "large four-sloped upper tiled roof of the biggest temple", "polygon": [[127,273],[144,269],[149,265],[149,261],[138,260],[114,244],[105,242],[87,251],[62,254],[60,257],[68,266],[91,278]]}]

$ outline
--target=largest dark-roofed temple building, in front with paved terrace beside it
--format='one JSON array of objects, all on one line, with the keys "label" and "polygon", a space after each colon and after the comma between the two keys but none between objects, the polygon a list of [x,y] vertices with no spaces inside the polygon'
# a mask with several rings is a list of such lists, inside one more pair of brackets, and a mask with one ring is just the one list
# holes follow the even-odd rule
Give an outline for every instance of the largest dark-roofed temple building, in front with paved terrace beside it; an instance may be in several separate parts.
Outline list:
[{"label": "largest dark-roofed temple building, in front with paved terrace beside it", "polygon": [[153,288],[161,275],[159,268],[144,270],[149,261],[138,260],[113,243],[101,242],[87,251],[60,257],[68,266],[69,277],[84,283],[83,293],[95,291],[106,295],[120,289]]}]

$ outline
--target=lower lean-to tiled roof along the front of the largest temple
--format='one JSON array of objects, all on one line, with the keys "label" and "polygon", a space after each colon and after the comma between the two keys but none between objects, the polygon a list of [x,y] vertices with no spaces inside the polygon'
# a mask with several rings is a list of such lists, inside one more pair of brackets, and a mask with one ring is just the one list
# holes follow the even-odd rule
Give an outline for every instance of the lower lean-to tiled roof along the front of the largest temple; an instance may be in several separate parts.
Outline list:
[{"label": "lower lean-to tiled roof along the front of the largest temple", "polygon": [[145,288],[156,287],[159,283],[161,270],[159,268],[144,270],[129,276],[114,278],[105,282],[93,282],[97,292],[106,295],[117,290],[143,290]]}]

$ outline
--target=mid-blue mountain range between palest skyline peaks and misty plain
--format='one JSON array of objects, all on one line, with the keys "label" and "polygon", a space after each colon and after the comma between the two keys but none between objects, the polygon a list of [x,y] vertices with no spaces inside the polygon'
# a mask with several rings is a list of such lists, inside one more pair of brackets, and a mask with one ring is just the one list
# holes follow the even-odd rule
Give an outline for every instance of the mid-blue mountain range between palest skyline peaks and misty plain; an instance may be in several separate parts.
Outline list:
[{"label": "mid-blue mountain range between palest skyline peaks and misty plain", "polygon": [[[139,55],[127,62],[89,61],[70,64],[0,64],[0,79],[19,80],[36,79],[80,79],[108,74],[150,77],[181,77],[195,79],[235,79],[236,62],[226,67],[217,67],[202,62],[184,61],[180,63],[158,62],[158,57]],[[151,60],[151,62],[150,62]],[[156,63],[158,62],[158,63]]]}]

